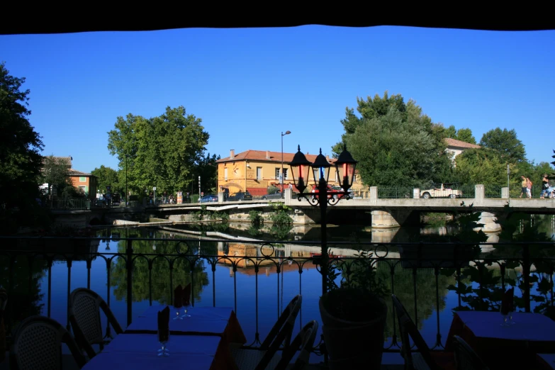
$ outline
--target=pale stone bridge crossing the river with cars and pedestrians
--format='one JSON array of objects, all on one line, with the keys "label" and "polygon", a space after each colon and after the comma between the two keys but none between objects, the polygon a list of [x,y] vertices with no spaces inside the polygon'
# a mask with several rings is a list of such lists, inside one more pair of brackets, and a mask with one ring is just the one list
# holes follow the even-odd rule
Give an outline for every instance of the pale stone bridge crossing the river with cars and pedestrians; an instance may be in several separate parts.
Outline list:
[{"label": "pale stone bridge crossing the river with cars and pedestrians", "polygon": [[[506,190],[506,188],[505,188]],[[418,192],[415,191],[417,196]],[[337,220],[357,220],[357,223],[371,225],[372,228],[398,228],[399,226],[419,225],[420,213],[468,213],[481,211],[484,232],[496,232],[500,225],[496,222],[503,213],[525,212],[535,214],[555,214],[555,199],[486,198],[483,185],[476,185],[474,198],[378,198],[378,188],[370,188],[369,198],[340,199],[335,205],[327,207],[327,222]],[[184,215],[201,210],[226,211],[230,220],[246,220],[252,210],[262,213],[271,212],[271,203],[276,201],[223,201],[218,194],[218,203],[183,203],[159,206],[140,206],[135,208],[92,208],[91,211],[58,211],[57,218],[84,226],[95,221],[110,223],[111,220],[142,220],[161,218],[173,221],[184,219]],[[320,209],[301,198],[292,198],[291,189],[285,189],[284,203],[293,208],[293,223],[297,225],[320,223]]]}]

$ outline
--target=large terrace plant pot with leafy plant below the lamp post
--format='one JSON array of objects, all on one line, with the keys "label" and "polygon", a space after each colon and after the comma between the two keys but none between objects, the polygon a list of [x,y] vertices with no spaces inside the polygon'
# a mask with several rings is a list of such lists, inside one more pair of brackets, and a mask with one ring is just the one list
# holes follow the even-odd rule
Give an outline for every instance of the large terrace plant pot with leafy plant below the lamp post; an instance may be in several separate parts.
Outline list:
[{"label": "large terrace plant pot with leafy plant below the lamp post", "polygon": [[[388,294],[376,276],[371,253],[328,265],[327,293],[320,297],[325,349],[330,369],[380,369]],[[341,284],[335,283],[341,276]]]}]

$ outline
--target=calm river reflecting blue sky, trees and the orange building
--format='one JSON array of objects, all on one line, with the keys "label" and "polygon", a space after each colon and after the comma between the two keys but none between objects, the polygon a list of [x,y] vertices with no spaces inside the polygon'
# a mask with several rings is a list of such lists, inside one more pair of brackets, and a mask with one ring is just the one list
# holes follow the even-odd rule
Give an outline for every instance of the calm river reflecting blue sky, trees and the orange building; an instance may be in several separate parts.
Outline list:
[{"label": "calm river reflecting blue sky, trees and the orange building", "polygon": [[[520,230],[525,233],[527,228],[534,228],[536,232],[543,232],[548,240],[555,240],[555,218],[553,215],[534,215],[529,220],[519,223]],[[408,229],[399,228],[393,230],[371,230],[371,228],[356,225],[328,225],[327,240],[332,251],[347,255],[354,254],[354,249],[349,245],[334,246],[335,242],[416,242],[427,240],[428,237],[449,235],[456,232],[456,226],[433,225],[422,228]],[[108,273],[104,257],[112,257],[113,253],[125,253],[125,241],[119,240],[123,237],[139,237],[160,240],[138,240],[133,242],[135,253],[175,253],[179,240],[188,239],[189,253],[201,255],[215,255],[229,257],[227,261],[234,260],[232,256],[243,253],[249,255],[262,254],[271,255],[276,260],[284,262],[278,274],[276,264],[261,263],[259,271],[254,271],[253,264],[249,262],[237,263],[237,271],[233,271],[230,262],[220,259],[218,263],[211,259],[201,259],[191,271],[183,260],[174,264],[172,280],[176,284],[194,283],[195,306],[229,306],[237,311],[237,318],[247,337],[247,344],[254,342],[258,333],[259,338],[269,332],[271,325],[277,319],[281,310],[287,303],[301,293],[303,296],[302,311],[298,318],[296,330],[308,320],[318,320],[318,299],[321,295],[321,275],[316,267],[304,264],[302,274],[299,274],[297,263],[290,263],[286,259],[308,258],[318,254],[320,241],[320,228],[318,226],[303,226],[296,228],[252,228],[248,223],[229,225],[179,225],[160,226],[156,228],[103,228],[95,230],[96,242],[91,244],[92,252],[99,255],[91,262],[91,289],[99,293],[106,301],[109,301],[113,313],[118,322],[125,327],[127,324],[126,304],[126,269],[125,261],[121,257],[113,257],[110,264],[110,281],[108,284]],[[280,243],[273,247],[262,247],[256,243],[237,240],[279,240]],[[212,242],[211,240],[220,240]],[[498,235],[488,235],[488,242],[495,243]],[[227,241],[226,241],[227,240]],[[313,241],[313,245],[303,242]],[[181,243],[181,252],[184,244]],[[391,253],[398,253],[392,248]],[[252,254],[254,253],[254,254]],[[258,253],[258,254],[256,254]],[[398,254],[397,254],[398,255]],[[5,256],[0,257],[1,280],[9,279],[9,260]],[[48,268],[45,261],[35,259],[33,262],[31,280],[28,278],[28,264],[26,259],[18,257],[14,269],[13,294],[11,299],[11,322],[17,322],[21,318],[32,314],[47,315],[50,299],[50,315],[60,323],[67,323],[67,296],[68,290],[87,285],[87,268],[85,261],[72,262],[71,269],[67,262],[62,259],[55,260],[51,268],[52,291],[48,296]],[[69,270],[71,276],[69,277]],[[379,274],[384,280],[390,281],[391,267],[379,265]],[[405,269],[401,264],[394,268],[394,285],[388,282],[389,288],[393,289],[396,296],[409,309],[413,319],[417,323],[422,336],[430,347],[434,347],[437,335],[444,343],[449,325],[452,321],[453,309],[459,305],[459,296],[449,286],[456,284],[456,277],[451,274],[439,274],[435,276],[433,269],[418,269],[413,275],[413,269]],[[442,270],[443,271],[443,270]],[[169,268],[167,262],[156,259],[152,264],[152,297],[149,290],[149,264],[145,259],[135,259],[133,270],[133,318],[142,313],[148,305],[150,298],[153,304],[169,303]],[[492,276],[499,273],[493,271]],[[436,280],[437,277],[437,280]],[[507,276],[510,277],[509,275]],[[514,277],[514,276],[513,276]],[[68,281],[70,282],[68,284]],[[436,285],[437,281],[437,285]],[[416,284],[414,284],[416,282]],[[7,284],[7,283],[6,283]],[[4,285],[6,285],[4,284]],[[495,284],[494,284],[495,285]],[[469,286],[476,287],[475,282]],[[437,287],[437,289],[436,289]],[[215,299],[215,300],[214,300]],[[416,300],[416,304],[415,304]],[[391,303],[389,303],[391,308]],[[194,308],[191,310],[194,315]],[[102,321],[103,327],[106,320]],[[386,327],[387,341],[385,346],[390,347],[393,343],[393,332],[396,331],[393,323],[393,311],[388,313],[388,325]],[[155,349],[153,349],[154,351]]]}]

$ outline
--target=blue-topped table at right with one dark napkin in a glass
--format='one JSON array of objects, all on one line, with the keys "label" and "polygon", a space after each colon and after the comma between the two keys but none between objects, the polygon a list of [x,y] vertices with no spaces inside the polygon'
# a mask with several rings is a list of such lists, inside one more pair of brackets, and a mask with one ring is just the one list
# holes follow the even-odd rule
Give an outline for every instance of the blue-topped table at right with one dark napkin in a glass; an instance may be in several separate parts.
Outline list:
[{"label": "blue-topped table at right with one dark napkin in a glass", "polygon": [[555,321],[539,313],[513,313],[512,319],[514,325],[503,327],[498,312],[459,311],[445,350],[453,350],[453,336],[459,335],[493,369],[525,369],[536,353],[555,352]]}]

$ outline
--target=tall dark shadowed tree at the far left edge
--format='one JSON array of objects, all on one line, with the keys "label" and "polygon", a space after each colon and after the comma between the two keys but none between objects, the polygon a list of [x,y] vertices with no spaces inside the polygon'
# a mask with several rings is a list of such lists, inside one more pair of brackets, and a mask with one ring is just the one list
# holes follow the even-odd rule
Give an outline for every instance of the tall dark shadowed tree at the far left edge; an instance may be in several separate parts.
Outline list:
[{"label": "tall dark shadowed tree at the far left edge", "polygon": [[28,120],[30,91],[21,89],[24,82],[0,62],[0,230],[30,225],[38,212],[44,145]]}]

